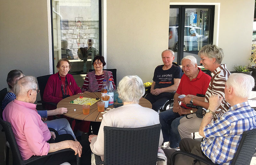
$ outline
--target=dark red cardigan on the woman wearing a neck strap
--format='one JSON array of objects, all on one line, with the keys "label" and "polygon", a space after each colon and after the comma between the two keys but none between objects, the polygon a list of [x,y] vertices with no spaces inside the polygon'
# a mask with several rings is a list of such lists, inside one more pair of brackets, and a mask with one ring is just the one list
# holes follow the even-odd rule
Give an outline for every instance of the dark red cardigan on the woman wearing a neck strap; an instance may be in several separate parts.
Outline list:
[{"label": "dark red cardigan on the woman wearing a neck strap", "polygon": [[[68,87],[73,95],[82,93],[81,89],[77,86],[75,79],[72,75],[67,74]],[[43,100],[46,102],[52,102],[58,104],[63,98],[59,98],[61,90],[61,81],[58,73],[51,75],[46,83],[44,89]]]}]

